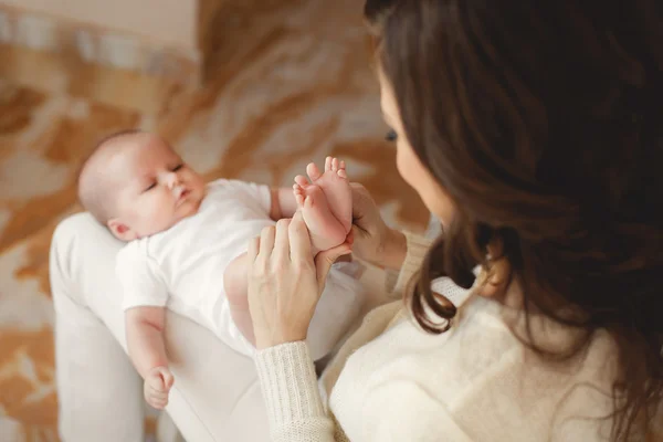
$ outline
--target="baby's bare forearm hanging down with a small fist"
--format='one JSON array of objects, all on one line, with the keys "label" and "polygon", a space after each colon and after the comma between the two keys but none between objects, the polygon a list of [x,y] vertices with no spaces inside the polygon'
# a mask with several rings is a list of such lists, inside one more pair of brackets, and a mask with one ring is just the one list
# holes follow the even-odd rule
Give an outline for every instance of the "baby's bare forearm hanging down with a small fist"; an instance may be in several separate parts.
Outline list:
[{"label": "baby's bare forearm hanging down with a small fist", "polygon": [[165,317],[164,307],[133,307],[125,313],[129,358],[145,379],[145,400],[157,409],[168,404],[173,382],[164,345]]}]

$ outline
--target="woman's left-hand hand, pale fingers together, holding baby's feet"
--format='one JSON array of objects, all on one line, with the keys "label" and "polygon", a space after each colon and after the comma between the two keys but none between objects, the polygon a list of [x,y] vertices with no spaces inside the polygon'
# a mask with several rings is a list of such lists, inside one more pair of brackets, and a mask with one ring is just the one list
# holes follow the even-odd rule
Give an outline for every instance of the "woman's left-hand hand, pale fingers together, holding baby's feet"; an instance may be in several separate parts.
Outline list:
[{"label": "woman's left-hand hand, pale fingers together, holding baby's feet", "polygon": [[256,348],[304,340],[329,269],[346,242],[313,257],[301,212],[263,229],[249,245],[249,309]]}]

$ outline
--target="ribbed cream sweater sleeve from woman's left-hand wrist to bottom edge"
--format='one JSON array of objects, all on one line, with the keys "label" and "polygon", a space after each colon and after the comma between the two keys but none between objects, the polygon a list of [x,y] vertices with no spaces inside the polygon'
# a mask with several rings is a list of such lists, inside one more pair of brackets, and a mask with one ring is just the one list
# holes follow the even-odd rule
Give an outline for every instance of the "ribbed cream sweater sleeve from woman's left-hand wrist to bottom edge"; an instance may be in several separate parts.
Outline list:
[{"label": "ribbed cream sweater sleeve from woman's left-hand wrist to bottom edge", "polygon": [[334,423],[325,413],[306,343],[259,350],[255,366],[273,442],[335,440]]}]

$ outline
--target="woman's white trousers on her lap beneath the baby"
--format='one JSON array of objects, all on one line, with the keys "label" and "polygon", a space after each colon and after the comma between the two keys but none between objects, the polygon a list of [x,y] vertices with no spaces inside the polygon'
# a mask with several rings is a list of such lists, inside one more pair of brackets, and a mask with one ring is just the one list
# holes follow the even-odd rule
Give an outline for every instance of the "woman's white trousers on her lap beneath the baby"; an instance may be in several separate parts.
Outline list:
[{"label": "woman's white trousers on her lap beneath the baby", "polygon": [[[122,292],[114,272],[119,248],[87,213],[64,220],[53,235],[50,273],[64,442],[144,441],[143,380],[126,355]],[[349,291],[341,292],[343,298]],[[339,303],[338,295],[327,296],[326,290],[312,322],[309,338],[315,329],[318,351],[330,349],[347,332],[361,304],[360,296]],[[347,317],[339,320],[339,315]],[[185,439],[269,440],[252,359],[170,312],[166,346],[176,377],[167,411]]]}]

